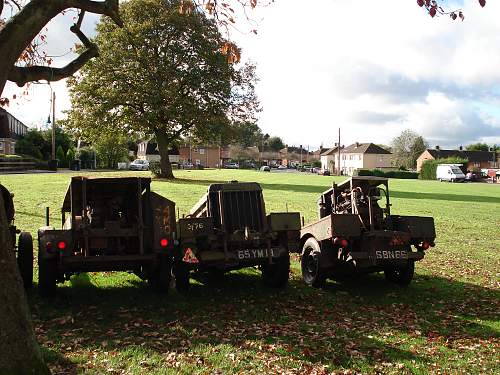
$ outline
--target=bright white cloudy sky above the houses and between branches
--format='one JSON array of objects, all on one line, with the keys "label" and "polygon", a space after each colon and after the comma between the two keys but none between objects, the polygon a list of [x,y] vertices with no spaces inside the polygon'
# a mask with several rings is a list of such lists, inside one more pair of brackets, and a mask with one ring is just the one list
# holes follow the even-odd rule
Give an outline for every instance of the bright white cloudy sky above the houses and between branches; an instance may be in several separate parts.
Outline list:
[{"label": "bright white cloudy sky above the houses and between branches", "polygon": [[[257,36],[232,32],[258,66],[260,127],[311,149],[332,145],[339,127],[343,144],[389,144],[404,129],[432,146],[500,143],[500,2],[465,0],[462,9],[464,22],[431,19],[414,0],[277,0],[255,15]],[[52,22],[50,53],[75,42],[70,23]],[[67,109],[64,83],[52,87]],[[41,124],[50,89],[30,92],[9,110]]]}]

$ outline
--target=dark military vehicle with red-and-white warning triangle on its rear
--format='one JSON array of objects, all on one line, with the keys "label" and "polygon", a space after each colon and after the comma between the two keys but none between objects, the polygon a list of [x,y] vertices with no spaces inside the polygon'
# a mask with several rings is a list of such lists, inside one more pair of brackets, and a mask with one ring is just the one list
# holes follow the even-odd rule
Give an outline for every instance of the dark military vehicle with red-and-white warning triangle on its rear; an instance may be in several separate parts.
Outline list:
[{"label": "dark military vehicle with red-and-white warning triangle on its rear", "polygon": [[262,189],[255,182],[213,184],[178,221],[179,248],[173,273],[186,292],[192,270],[221,277],[230,270],[258,266],[264,284],[288,282],[290,252],[300,241],[300,214],[266,215]]}]

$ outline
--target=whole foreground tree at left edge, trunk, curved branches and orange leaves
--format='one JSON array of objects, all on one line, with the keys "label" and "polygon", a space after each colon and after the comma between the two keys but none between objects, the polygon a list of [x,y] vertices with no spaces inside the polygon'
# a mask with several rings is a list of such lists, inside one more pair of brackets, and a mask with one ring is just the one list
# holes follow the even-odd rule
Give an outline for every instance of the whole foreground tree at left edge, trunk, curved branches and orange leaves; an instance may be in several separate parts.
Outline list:
[{"label": "whole foreground tree at left edge, trunk, curved branches and orange leaves", "polygon": [[[231,22],[232,12],[226,9],[228,3],[251,8],[257,5],[256,0],[242,3],[228,0],[224,4],[183,0],[180,6],[184,13],[206,11],[224,27]],[[43,30],[47,23],[70,8],[79,13],[69,31],[80,40],[83,50],[66,66],[55,67],[38,47],[45,38]],[[39,80],[57,81],[71,76],[99,54],[97,46],[80,28],[86,12],[106,15],[117,25],[123,24],[118,0],[0,0],[0,105],[8,102],[8,98],[2,97],[7,80],[19,86]],[[68,33],[68,38],[71,35]],[[233,44],[227,43],[224,52],[228,59],[239,60],[239,51]],[[48,369],[36,343],[8,228],[4,201],[0,197],[0,374],[45,374]]]}]

